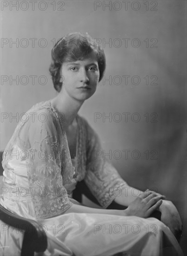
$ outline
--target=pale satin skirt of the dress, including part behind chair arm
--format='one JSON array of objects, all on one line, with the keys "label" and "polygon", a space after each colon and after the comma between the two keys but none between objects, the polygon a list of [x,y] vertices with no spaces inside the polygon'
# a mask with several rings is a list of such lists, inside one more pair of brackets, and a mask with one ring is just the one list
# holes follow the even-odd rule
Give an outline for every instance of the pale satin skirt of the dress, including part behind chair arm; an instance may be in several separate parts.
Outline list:
[{"label": "pale satin skirt of the dress, including part behind chair arm", "polygon": [[[65,213],[37,221],[47,234],[47,250],[37,256],[183,255],[170,229],[155,218]],[[0,224],[0,255],[20,255],[23,234],[11,227],[7,232],[6,224]]]}]

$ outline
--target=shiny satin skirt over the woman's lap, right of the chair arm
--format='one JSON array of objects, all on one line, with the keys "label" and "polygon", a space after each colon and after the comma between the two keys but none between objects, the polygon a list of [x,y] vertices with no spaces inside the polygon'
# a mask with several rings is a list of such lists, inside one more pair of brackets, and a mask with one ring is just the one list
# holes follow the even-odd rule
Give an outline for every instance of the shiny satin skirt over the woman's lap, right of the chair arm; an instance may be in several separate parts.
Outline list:
[{"label": "shiny satin skirt over the woman's lap, right of the chair arm", "polygon": [[159,256],[163,234],[167,247],[174,249],[173,255],[181,255],[173,234],[155,218],[69,213],[42,220],[40,224],[45,225],[47,236],[53,238],[51,248],[54,243],[65,244],[76,255],[112,256],[128,252],[134,256]]}]

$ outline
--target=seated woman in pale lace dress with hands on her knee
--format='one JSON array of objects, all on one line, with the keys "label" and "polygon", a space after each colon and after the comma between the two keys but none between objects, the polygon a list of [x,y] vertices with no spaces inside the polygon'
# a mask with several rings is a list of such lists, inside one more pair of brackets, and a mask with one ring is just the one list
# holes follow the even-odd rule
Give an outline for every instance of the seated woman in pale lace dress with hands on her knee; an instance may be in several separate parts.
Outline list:
[{"label": "seated woman in pale lace dress with hands on her knee", "polygon": [[[52,60],[50,72],[59,94],[28,110],[7,144],[2,164],[8,192],[1,204],[45,227],[44,255],[182,255],[174,236],[181,228],[174,205],[149,190],[134,197],[116,169],[96,156],[100,140],[78,115],[102,79],[103,50],[88,34],[73,33],[58,40]],[[104,209],[86,207],[69,196],[82,180]],[[117,197],[116,188],[122,191]],[[106,209],[113,201],[124,210]],[[149,217],[156,209],[161,221]],[[18,241],[11,246],[19,252]]]}]

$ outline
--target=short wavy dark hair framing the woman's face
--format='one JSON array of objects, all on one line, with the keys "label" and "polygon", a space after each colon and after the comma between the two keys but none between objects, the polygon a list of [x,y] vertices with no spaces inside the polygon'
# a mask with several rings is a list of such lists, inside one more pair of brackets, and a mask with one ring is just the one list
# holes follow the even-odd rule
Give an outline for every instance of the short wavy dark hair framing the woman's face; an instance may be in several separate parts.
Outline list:
[{"label": "short wavy dark hair framing the woman's face", "polygon": [[79,32],[70,33],[60,38],[51,51],[52,63],[49,67],[55,90],[60,92],[62,88],[62,81],[60,81],[60,69],[62,63],[64,61],[83,60],[88,54],[92,53],[95,54],[98,62],[100,81],[103,78],[106,68],[106,59],[104,50],[98,44],[94,43],[93,38],[87,33],[81,34]]}]

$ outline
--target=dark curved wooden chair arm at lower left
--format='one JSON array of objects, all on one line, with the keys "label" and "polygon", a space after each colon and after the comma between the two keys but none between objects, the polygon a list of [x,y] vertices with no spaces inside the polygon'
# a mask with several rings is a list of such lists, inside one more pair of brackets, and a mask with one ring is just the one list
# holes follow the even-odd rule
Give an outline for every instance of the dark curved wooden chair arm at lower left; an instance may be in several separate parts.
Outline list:
[{"label": "dark curved wooden chair arm at lower left", "polygon": [[47,249],[47,236],[38,222],[20,217],[2,205],[0,205],[0,219],[7,225],[25,231],[21,255],[24,255],[29,250],[30,252],[44,252]]}]

